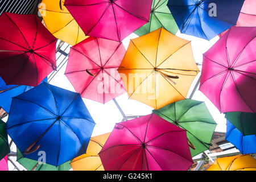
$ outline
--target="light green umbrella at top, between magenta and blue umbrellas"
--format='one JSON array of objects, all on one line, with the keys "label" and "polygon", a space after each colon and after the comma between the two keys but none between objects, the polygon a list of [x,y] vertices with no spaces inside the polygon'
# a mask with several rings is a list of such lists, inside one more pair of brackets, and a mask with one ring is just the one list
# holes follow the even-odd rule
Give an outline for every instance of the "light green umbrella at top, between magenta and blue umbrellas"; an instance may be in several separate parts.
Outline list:
[{"label": "light green umbrella at top, between magenta and blue umbrellas", "polygon": [[153,0],[149,22],[134,33],[142,36],[163,27],[172,34],[176,34],[179,27],[177,27],[175,19],[167,7],[167,2],[168,0]]}]

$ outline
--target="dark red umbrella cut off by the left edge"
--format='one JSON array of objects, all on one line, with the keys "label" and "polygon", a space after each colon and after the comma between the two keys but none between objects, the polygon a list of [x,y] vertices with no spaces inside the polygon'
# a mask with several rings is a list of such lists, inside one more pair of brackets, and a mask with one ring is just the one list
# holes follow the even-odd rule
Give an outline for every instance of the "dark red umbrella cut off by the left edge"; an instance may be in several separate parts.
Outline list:
[{"label": "dark red umbrella cut off by the left edge", "polygon": [[7,85],[38,85],[56,68],[55,47],[35,15],[0,16],[0,76]]}]

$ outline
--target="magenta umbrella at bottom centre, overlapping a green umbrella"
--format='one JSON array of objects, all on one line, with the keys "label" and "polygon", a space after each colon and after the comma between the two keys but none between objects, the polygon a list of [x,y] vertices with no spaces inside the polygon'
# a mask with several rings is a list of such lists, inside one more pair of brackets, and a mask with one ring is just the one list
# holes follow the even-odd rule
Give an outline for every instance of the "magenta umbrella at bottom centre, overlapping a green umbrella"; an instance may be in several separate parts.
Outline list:
[{"label": "magenta umbrella at bottom centre, overlapping a green umbrella", "polygon": [[185,130],[153,113],[117,123],[99,155],[106,171],[183,171],[193,163]]}]

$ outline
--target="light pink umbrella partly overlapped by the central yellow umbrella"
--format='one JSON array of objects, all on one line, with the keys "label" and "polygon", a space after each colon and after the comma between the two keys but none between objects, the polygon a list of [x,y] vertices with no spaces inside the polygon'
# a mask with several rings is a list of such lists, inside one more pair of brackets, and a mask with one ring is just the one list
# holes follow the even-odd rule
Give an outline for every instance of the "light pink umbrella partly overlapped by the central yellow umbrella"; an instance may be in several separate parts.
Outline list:
[{"label": "light pink umbrella partly overlapped by the central yellow umbrella", "polygon": [[117,71],[124,55],[122,43],[90,37],[71,48],[65,75],[82,97],[105,104],[126,92]]}]

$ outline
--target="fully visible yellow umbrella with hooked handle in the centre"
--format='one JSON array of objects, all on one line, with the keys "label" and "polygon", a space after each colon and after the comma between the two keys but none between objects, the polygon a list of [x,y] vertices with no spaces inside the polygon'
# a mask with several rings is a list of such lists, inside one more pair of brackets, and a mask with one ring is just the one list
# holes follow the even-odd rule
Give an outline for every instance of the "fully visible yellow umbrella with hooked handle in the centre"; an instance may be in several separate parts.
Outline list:
[{"label": "fully visible yellow umbrella with hooked handle in the centre", "polygon": [[130,40],[118,72],[129,98],[160,109],[187,97],[199,69],[191,42],[159,28]]}]

